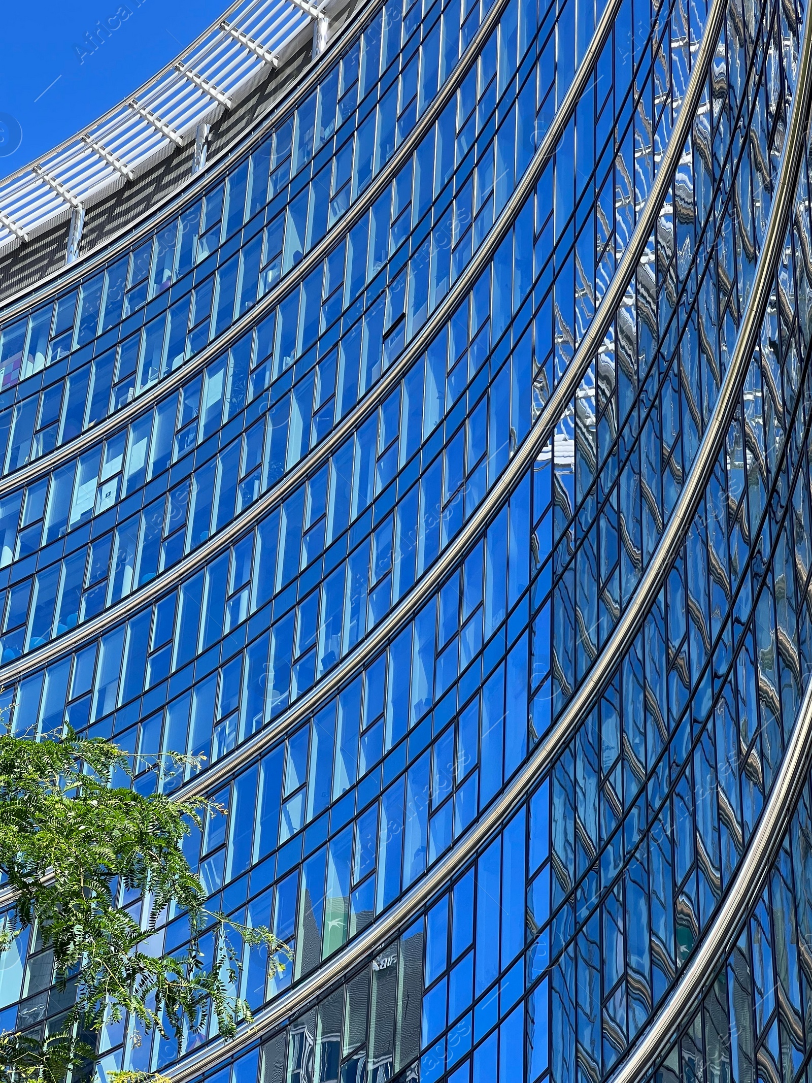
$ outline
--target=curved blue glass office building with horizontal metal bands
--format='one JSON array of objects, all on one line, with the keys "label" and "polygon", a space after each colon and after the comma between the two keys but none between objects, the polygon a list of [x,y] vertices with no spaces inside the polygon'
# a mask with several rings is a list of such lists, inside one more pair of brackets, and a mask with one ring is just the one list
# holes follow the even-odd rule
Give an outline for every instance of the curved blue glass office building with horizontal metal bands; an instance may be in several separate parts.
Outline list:
[{"label": "curved blue glass office building with horizontal metal bands", "polygon": [[293,953],[103,1073],[812,1079],[806,16],[253,0],[0,183],[13,725]]}]

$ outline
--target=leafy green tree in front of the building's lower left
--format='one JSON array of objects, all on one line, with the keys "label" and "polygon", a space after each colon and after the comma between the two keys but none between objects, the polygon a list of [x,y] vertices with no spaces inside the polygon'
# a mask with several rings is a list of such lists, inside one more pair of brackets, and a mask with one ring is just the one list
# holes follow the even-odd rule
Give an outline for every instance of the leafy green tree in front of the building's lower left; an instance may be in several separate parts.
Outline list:
[{"label": "leafy green tree in front of the building's lower left", "polygon": [[[170,756],[149,766],[171,771],[187,762]],[[56,1033],[0,1035],[0,1083],[60,1083],[69,1070],[89,1071],[102,1022],[120,1022],[125,1013],[139,1033],[173,1035],[179,1048],[184,1033],[202,1031],[212,1015],[230,1040],[251,1022],[235,992],[241,944],[264,945],[275,971],[289,957],[267,928],[235,925],[205,908],[182,843],[206,815],[224,810],[200,797],[142,795],[129,785],[134,766],[112,742],[73,731],[42,741],[0,735],[0,870],[13,892],[0,951],[34,926],[70,1005]],[[144,896],[146,922],[117,905],[121,884]],[[188,917],[188,945],[174,955],[154,950],[167,908]],[[207,953],[201,936],[212,923]],[[132,1083],[132,1074],[120,1073],[119,1083]]]}]

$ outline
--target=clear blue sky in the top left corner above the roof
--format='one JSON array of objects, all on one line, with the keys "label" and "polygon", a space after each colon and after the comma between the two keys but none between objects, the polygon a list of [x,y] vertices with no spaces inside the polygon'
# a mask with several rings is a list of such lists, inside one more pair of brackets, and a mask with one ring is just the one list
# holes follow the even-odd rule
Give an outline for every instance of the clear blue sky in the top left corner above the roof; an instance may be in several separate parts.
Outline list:
[{"label": "clear blue sky in the top left corner above the roof", "polygon": [[[131,12],[126,19],[117,17],[122,4]],[[131,94],[228,6],[230,0],[3,3],[0,178],[40,157]],[[86,34],[97,30],[97,21],[105,24],[108,19],[110,25],[120,25],[95,52],[89,52]],[[81,62],[77,45],[86,52]],[[19,146],[8,153],[21,130]]]}]

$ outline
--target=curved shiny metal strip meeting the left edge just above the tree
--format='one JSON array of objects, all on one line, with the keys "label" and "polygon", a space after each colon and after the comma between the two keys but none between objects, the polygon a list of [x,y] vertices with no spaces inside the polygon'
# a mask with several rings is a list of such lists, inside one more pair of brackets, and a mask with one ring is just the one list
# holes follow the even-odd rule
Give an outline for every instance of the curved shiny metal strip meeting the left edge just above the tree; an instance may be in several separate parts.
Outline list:
[{"label": "curved shiny metal strip meeting the left edge just above the tree", "polygon": [[[14,662],[10,662],[5,666],[0,667],[0,684],[11,683],[26,671],[40,665],[44,665],[53,658],[74,650],[79,643],[82,643],[88,639],[92,639],[103,632],[104,629],[118,624],[122,619],[126,619],[126,617],[131,613],[142,609],[144,605],[171,589],[172,586],[181,583],[187,575],[189,575],[189,573],[204,565],[215,553],[227,549],[236,538],[245,534],[260,519],[262,519],[263,516],[276,507],[277,504],[281,503],[285,497],[289,495],[289,493],[291,493],[304,481],[312,470],[316,469],[337,447],[341,445],[343,440],[345,440],[346,436],[357,428],[365,417],[367,417],[374,409],[377,409],[378,404],[387,396],[393,384],[402,378],[412,362],[420,356],[431,338],[450,316],[451,312],[454,312],[454,309],[459,303],[460,298],[463,297],[466,291],[471,288],[482,272],[483,266],[487,264],[498,248],[507,231],[512,227],[513,220],[519,209],[527,196],[533,192],[538,175],[549,161],[562,131],[575,112],[581,91],[592,74],[593,66],[600,56],[608,32],[614,25],[615,16],[620,9],[620,2],[621,0],[610,0],[607,3],[598,27],[595,28],[589,49],[584,55],[584,60],[575,74],[573,83],[569,87],[569,90],[561,104],[561,108],[558,110],[556,116],[547,132],[547,135],[542,140],[541,146],[536,151],[536,154],[531,161],[531,166],[522,179],[521,185],[515,190],[511,198],[506,204],[498,223],[494,226],[492,233],[483,243],[480,251],[476,253],[476,257],[471,261],[471,263],[469,263],[466,271],[457,280],[455,288],[446,295],[443,303],[435,310],[433,315],[423,325],[422,329],[415,337],[415,339],[412,339],[411,343],[404,351],[397,363],[384,374],[380,381],[370,390],[366,399],[362,400],[356,409],[351,412],[323,441],[323,443],[319,444],[313,453],[305,456],[296,467],[293,467],[292,470],[290,470],[290,472],[286,474],[277,485],[269,490],[267,493],[251,505],[245,514],[234,519],[227,526],[223,527],[222,531],[215,534],[198,549],[195,549],[194,552],[188,553],[187,557],[180,561],[180,563],[178,563],[174,567],[163,573],[163,575],[158,576],[145,587],[122,599],[115,606],[100,613],[97,617],[87,622],[87,624],[80,625],[73,631],[60,637],[60,639],[53,640],[51,643],[47,643],[44,647],[38,648],[36,651],[30,651],[28,654],[23,655]],[[682,146],[680,145],[680,154],[681,153]],[[672,155],[672,157],[676,157],[676,155]],[[652,188],[652,192],[654,191],[656,191],[656,184]],[[620,268],[623,266],[624,263],[621,261]],[[606,296],[610,296],[608,291]],[[623,290],[620,291],[620,296],[623,296]],[[174,375],[180,376],[183,374],[185,379],[188,371],[189,369],[179,369],[178,374]],[[551,399],[551,403],[554,397],[555,396]],[[104,426],[100,425],[91,430],[94,440],[99,435],[100,430],[103,428]],[[514,462],[519,459],[521,454],[522,453],[516,455]],[[509,475],[510,479],[513,479],[511,468],[508,468],[508,471],[506,471],[506,477],[507,475]],[[510,484],[512,483],[513,482],[511,480]],[[3,492],[4,490],[0,484],[0,495]],[[507,490],[500,481],[499,485],[495,486],[494,493],[492,494],[493,499],[500,499],[505,492],[507,492]],[[496,496],[494,496],[494,494],[496,494]],[[480,511],[492,508],[492,497],[487,497],[483,501],[480,506]],[[477,511],[477,514],[469,522],[468,527],[460,532],[459,537],[469,538],[472,533],[475,533],[476,530],[480,529],[483,521],[483,514]],[[449,546],[448,550],[446,550],[446,552],[450,554],[449,559],[456,559],[459,551],[461,551],[460,546],[457,544]],[[445,569],[447,567],[447,560],[443,560],[440,566],[443,570],[440,574],[444,575]],[[434,583],[434,579],[431,582]],[[420,590],[421,588],[418,587],[418,593]],[[414,595],[415,592],[412,591],[412,596]],[[419,604],[419,601],[415,601],[412,596],[407,596],[404,599],[404,603],[411,602],[414,605]],[[419,593],[419,597],[422,598],[422,593]],[[392,618],[396,618],[405,612],[406,605],[404,604],[393,611],[390,614],[390,617],[378,626],[376,632],[374,632],[372,637],[370,637],[376,644],[374,648],[375,650],[378,649],[377,644],[380,642],[381,635],[385,635],[388,630],[391,630]],[[401,618],[404,617],[401,616]],[[364,657],[366,656],[367,655],[365,654]],[[348,660],[345,660],[348,663],[350,657],[351,656],[348,656]],[[352,657],[356,661],[358,655],[354,655]],[[339,679],[343,679],[346,668],[348,666],[343,663],[337,667],[335,671],[340,671],[342,675]],[[326,680],[329,680],[329,678],[326,678]]]}]

